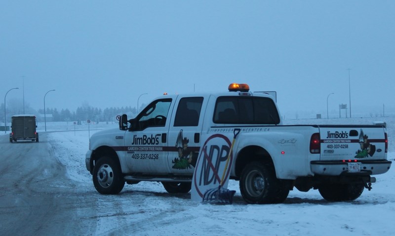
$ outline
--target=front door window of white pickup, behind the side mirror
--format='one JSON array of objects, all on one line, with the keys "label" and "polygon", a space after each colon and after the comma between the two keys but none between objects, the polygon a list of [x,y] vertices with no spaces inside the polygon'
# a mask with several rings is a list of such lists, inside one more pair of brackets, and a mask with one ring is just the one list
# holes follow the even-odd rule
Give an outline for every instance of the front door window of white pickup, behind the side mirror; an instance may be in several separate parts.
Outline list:
[{"label": "front door window of white pickup, behind the side mirror", "polygon": [[136,130],[148,127],[164,127],[169,112],[171,99],[153,101],[137,117]]}]

